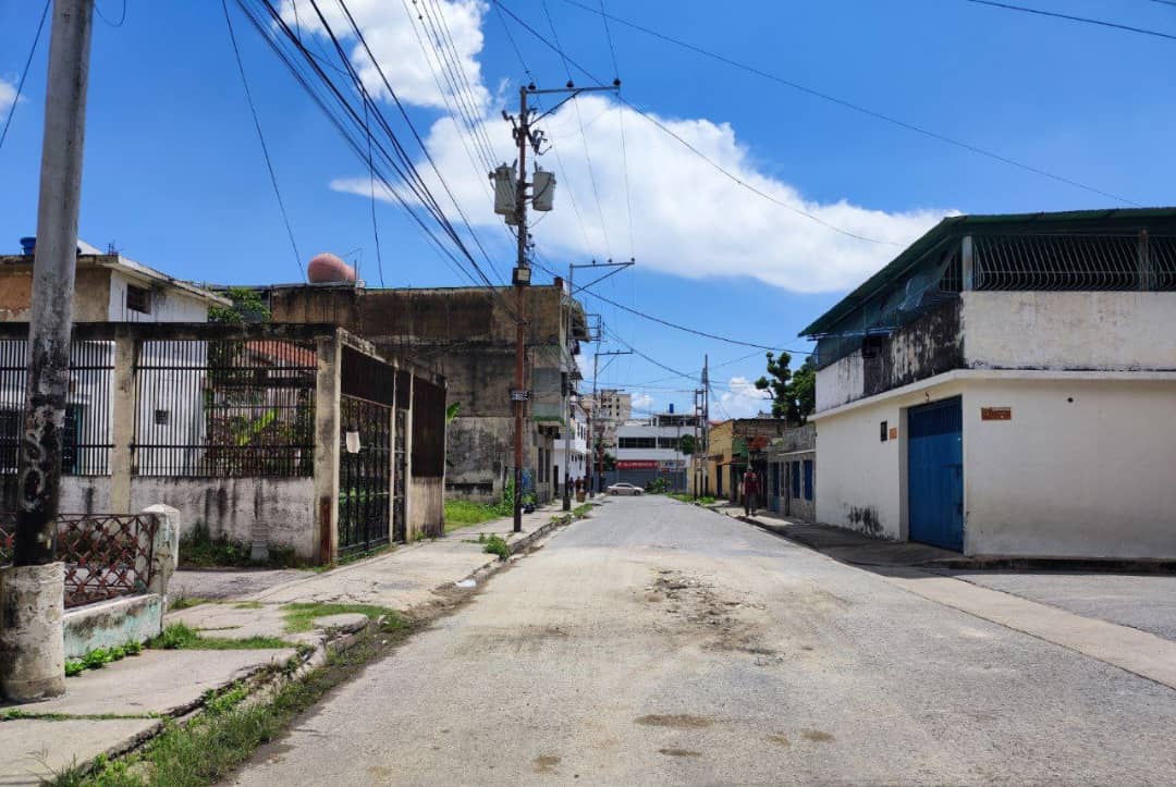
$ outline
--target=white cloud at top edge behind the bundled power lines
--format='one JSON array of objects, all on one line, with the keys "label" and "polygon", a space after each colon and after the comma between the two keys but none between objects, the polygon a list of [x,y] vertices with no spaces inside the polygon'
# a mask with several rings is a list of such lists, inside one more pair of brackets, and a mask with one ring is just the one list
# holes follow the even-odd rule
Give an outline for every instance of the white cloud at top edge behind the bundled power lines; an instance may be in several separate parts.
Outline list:
[{"label": "white cloud at top edge behind the bundled power lines", "polygon": [[[406,5],[412,11],[406,8]],[[432,42],[443,41],[456,52],[456,62],[473,88],[468,94],[473,109],[482,115],[489,107],[489,93],[482,85],[477,53],[482,51],[482,16],[487,6],[481,0],[350,0],[347,4],[363,39],[401,101],[425,107],[446,107],[455,88],[445,76],[442,61]],[[327,26],[343,47],[350,47],[350,59],[373,96],[390,100],[380,71],[372,64],[363,44],[352,33],[350,21],[339,4],[319,4]],[[290,27],[302,34],[326,36],[322,20],[306,0],[282,0],[280,13]],[[325,39],[320,39],[325,40]],[[437,76],[434,76],[437,74]],[[453,76],[457,74],[453,72]],[[456,87],[457,91],[462,86]]]}]

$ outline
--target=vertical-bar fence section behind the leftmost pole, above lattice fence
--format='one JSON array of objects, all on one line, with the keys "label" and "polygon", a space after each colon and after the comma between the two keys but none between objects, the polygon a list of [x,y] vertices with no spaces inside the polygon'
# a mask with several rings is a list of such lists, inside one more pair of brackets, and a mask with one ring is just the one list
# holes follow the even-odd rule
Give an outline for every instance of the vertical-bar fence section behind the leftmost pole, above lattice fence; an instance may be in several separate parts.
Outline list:
[{"label": "vertical-bar fence section behind the leftmost pole, above lattice fence", "polygon": [[[111,388],[114,342],[75,341],[69,348],[61,472],[66,475],[111,473]],[[0,511],[15,508],[16,461],[28,385],[28,341],[0,340]]]}]

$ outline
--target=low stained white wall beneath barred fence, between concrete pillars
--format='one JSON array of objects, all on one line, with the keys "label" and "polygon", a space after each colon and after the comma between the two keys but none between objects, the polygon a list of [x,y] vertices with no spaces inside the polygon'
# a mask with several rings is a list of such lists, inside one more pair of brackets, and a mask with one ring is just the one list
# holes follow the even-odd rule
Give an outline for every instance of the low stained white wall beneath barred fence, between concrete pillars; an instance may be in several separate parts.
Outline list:
[{"label": "low stained white wall beneath barred fence, between concrete pillars", "polygon": [[180,512],[182,535],[198,522],[214,536],[249,543],[260,526],[268,542],[294,548],[305,560],[316,558],[312,478],[153,478],[131,482],[131,511],[165,503]]}]

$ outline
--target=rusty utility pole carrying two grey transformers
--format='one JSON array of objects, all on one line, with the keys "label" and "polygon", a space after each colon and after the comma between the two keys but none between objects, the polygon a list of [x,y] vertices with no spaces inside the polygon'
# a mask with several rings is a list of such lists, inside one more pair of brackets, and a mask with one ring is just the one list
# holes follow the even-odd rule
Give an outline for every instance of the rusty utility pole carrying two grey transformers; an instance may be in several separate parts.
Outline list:
[{"label": "rusty utility pole carrying two grey transformers", "polygon": [[[519,87],[519,116],[510,118],[506,112],[502,113],[503,118],[514,125],[514,139],[519,145],[519,172],[517,180],[515,182],[515,194],[514,194],[514,211],[502,211],[500,209],[497,192],[495,193],[495,211],[506,213],[510,215],[514,221],[509,224],[515,225],[515,229],[519,235],[519,251],[517,261],[514,269],[514,291],[515,291],[515,380],[514,388],[510,391],[510,401],[514,406],[514,532],[522,532],[522,445],[523,445],[523,420],[527,412],[527,400],[530,398],[530,392],[526,388],[526,314],[524,314],[524,302],[523,302],[523,291],[530,285],[530,265],[527,260],[527,242],[529,235],[527,232],[527,187],[530,185],[527,182],[527,148],[530,147],[535,152],[535,156],[542,153],[539,148],[543,141],[543,132],[533,131],[533,126],[546,118],[547,115],[555,112],[566,101],[570,101],[580,93],[599,92],[599,91],[617,91],[621,87],[621,80],[613,80],[612,87],[576,87],[570,80],[566,88],[556,89],[539,89],[535,87],[534,82],[530,85],[524,85]],[[567,98],[560,104],[555,105],[547,112],[535,118],[532,118],[532,109],[527,106],[528,95],[544,95],[552,93],[563,93]],[[490,178],[495,180],[496,185],[501,182],[500,173],[503,169],[509,169],[503,165],[499,167],[497,173],[490,173]],[[552,192],[555,187],[555,179],[550,173],[540,173],[536,171],[535,180],[539,181],[540,175],[543,175],[543,188],[536,189],[536,193],[532,196],[535,201],[535,208],[542,211],[552,209],[550,200]],[[543,207],[540,207],[539,201],[542,196]]]}]

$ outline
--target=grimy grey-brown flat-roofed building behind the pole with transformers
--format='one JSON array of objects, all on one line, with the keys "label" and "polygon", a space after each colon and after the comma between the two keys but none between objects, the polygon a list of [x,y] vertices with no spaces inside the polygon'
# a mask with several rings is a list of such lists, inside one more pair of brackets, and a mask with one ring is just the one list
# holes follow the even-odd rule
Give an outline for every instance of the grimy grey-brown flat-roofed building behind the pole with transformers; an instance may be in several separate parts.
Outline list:
[{"label": "grimy grey-brown flat-roofed building behind the pole with transformers", "polygon": [[[579,379],[574,355],[588,334],[583,309],[568,298],[562,281],[523,292],[530,392],[523,476],[542,502],[554,495],[555,442],[566,421],[566,396]],[[265,294],[275,322],[339,325],[386,355],[412,359],[443,374],[448,403],[459,406],[448,431],[446,489],[474,500],[501,498],[514,466],[512,288],[292,285],[266,288]]]}]

